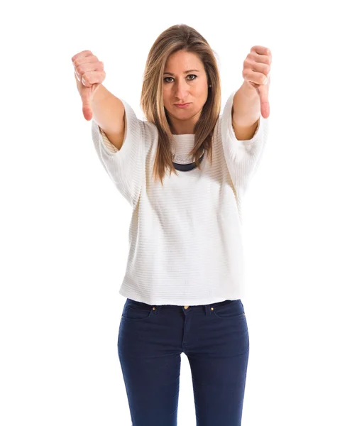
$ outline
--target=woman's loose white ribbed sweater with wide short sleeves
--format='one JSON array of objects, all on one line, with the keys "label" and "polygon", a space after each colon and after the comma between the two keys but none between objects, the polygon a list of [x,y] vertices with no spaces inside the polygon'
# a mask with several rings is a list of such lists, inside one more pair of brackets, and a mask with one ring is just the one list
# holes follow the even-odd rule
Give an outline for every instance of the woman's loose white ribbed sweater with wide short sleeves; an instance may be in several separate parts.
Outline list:
[{"label": "woman's loose white ribbed sweater with wide short sleeves", "polygon": [[[212,165],[205,153],[202,170],[167,174],[163,186],[152,178],[158,146],[154,124],[138,119],[121,99],[126,133],[118,151],[92,120],[99,160],[133,208],[126,274],[119,290],[124,297],[182,306],[243,299],[241,202],[268,137],[268,119],[260,115],[253,138],[238,141],[231,117],[235,93],[214,129]],[[176,158],[186,157],[194,134],[174,137]]]}]

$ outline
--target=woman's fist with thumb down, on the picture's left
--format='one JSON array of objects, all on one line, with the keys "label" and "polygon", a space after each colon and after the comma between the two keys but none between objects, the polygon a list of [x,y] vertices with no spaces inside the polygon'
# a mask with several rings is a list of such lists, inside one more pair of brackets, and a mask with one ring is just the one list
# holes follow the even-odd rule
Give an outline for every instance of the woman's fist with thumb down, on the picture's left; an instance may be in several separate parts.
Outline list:
[{"label": "woman's fist with thumb down, on the picture's left", "polygon": [[82,99],[82,111],[84,119],[92,120],[93,113],[91,103],[94,93],[105,79],[103,62],[90,50],[83,50],[72,58],[75,67],[77,89]]}]

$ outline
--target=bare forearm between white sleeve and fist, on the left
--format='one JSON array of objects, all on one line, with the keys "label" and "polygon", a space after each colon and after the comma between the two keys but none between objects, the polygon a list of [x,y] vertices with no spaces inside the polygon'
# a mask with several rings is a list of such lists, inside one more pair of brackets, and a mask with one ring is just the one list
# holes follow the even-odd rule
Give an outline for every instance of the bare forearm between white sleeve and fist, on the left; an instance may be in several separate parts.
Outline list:
[{"label": "bare forearm between white sleeve and fist, on the left", "polygon": [[123,102],[100,84],[91,103],[93,120],[105,132],[109,141],[120,150],[125,134]]}]

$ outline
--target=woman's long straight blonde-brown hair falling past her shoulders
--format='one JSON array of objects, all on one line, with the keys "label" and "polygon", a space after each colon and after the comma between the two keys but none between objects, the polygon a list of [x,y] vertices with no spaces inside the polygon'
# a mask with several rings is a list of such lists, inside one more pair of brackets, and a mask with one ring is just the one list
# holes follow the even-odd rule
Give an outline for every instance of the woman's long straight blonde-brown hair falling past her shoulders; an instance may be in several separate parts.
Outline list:
[{"label": "woman's long straight blonde-brown hair falling past her shoulders", "polygon": [[204,64],[209,87],[207,102],[204,104],[201,116],[194,126],[194,148],[190,152],[194,163],[200,169],[199,158],[204,151],[212,163],[212,136],[216,121],[221,111],[221,80],[214,50],[207,40],[194,28],[178,24],[163,31],[153,43],[146,60],[141,90],[141,109],[146,119],[155,124],[158,129],[158,150],[153,167],[154,180],[160,178],[163,185],[165,171],[174,172],[171,148],[173,136],[170,129],[170,119],[163,103],[163,74],[167,59],[172,53],[185,50],[195,53]]}]

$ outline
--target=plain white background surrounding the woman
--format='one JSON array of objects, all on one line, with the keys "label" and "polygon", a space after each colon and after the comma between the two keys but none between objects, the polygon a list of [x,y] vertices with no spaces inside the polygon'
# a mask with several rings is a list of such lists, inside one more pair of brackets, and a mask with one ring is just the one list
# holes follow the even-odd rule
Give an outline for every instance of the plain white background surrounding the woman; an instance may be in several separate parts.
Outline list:
[{"label": "plain white background surrounding the woman", "polygon": [[[219,55],[222,109],[270,48],[270,134],[243,202],[243,426],[356,426],[356,28],[352,1],[44,1],[1,13],[0,423],[131,426],[117,338],[131,207],[99,163],[71,58],[143,117],[155,38]],[[178,426],[194,426],[182,354]],[[155,386],[155,383],[153,383]],[[204,426],[204,425],[202,425]],[[217,425],[224,426],[224,425]]]}]

